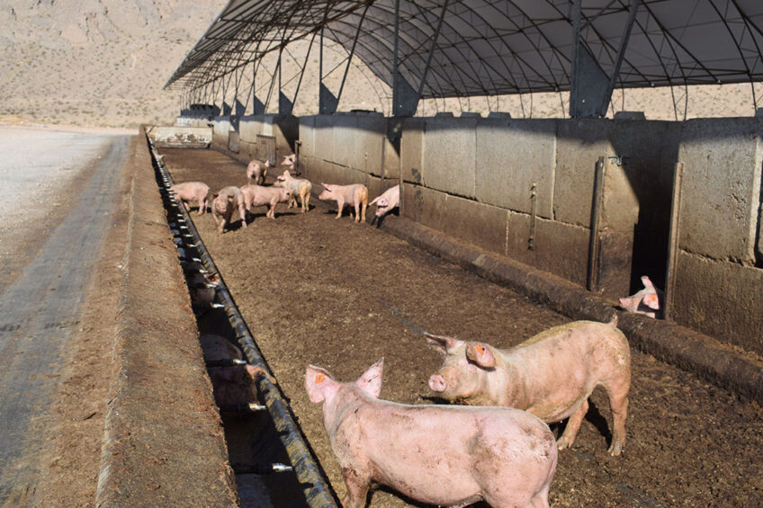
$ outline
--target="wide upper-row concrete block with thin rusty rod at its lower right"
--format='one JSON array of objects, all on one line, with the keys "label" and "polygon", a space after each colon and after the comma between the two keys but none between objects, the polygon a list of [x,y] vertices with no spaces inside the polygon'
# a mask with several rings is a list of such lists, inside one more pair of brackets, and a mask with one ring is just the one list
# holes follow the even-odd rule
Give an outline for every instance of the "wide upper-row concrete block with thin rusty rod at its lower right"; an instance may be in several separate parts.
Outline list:
[{"label": "wide upper-row concrete block with thin rusty rod at its lower right", "polygon": [[477,122],[477,199],[530,213],[536,183],[537,214],[552,218],[556,120]]}]

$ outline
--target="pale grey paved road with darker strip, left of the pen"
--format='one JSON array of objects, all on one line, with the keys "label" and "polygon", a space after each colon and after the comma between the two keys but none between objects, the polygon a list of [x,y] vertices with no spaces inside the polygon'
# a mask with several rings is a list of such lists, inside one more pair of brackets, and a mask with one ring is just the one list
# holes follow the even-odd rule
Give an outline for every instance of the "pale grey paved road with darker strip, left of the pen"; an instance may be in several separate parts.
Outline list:
[{"label": "pale grey paved road with darker strip, left of the pen", "polygon": [[0,506],[24,504],[45,467],[40,431],[129,142],[0,129]]}]

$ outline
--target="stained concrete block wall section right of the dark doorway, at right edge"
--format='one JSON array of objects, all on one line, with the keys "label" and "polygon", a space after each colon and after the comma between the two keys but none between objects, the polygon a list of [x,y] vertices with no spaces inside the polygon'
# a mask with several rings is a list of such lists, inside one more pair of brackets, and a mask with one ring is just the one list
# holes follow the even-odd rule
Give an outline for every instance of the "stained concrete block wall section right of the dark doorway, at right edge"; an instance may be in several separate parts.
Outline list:
[{"label": "stained concrete block wall section right of the dark doorway, at right edge", "polygon": [[689,120],[674,318],[763,354],[763,119]]}]

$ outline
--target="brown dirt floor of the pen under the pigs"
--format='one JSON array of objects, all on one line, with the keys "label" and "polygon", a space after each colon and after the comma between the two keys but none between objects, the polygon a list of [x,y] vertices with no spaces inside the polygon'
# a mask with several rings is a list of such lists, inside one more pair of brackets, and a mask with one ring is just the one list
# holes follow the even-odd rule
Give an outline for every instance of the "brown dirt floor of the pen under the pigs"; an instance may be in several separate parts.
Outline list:
[{"label": "brown dirt floor of the pen under the pigs", "polygon": [[[246,183],[244,165],[219,152],[163,153],[175,182]],[[422,330],[508,347],[569,321],[375,227],[336,220],[333,206],[304,215],[278,206],[274,220],[256,209],[249,227],[235,218],[221,236],[210,215],[193,219],[340,498],[320,407],[305,393],[306,365],[349,381],[384,357],[381,398],[430,404],[426,380],[441,358]],[[553,506],[763,506],[756,404],[633,351],[628,441],[612,458],[606,394],[597,389],[591,401],[573,449],[560,453]],[[369,505],[410,504],[380,490]]]}]

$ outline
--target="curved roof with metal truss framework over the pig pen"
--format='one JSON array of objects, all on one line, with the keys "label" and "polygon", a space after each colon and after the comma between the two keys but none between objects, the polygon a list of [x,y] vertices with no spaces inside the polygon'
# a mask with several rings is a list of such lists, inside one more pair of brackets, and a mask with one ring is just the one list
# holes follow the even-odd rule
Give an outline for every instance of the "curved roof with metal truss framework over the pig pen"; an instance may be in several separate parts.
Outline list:
[{"label": "curved roof with metal truss framework over the pig pen", "polygon": [[761,0],[231,0],[166,86],[208,83],[321,27],[387,85],[397,65],[421,98],[568,91],[576,68],[610,94],[763,80]]}]

